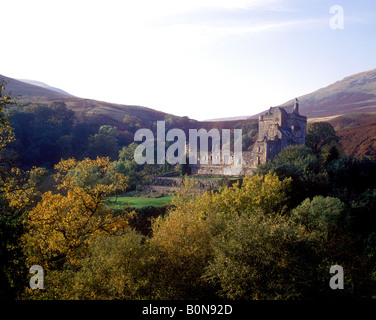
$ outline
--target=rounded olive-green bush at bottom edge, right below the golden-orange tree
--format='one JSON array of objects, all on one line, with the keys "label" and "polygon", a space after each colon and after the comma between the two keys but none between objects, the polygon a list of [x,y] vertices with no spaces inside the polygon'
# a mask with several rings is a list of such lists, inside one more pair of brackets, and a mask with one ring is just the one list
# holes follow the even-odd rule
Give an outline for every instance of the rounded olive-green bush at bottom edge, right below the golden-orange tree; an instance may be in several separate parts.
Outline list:
[{"label": "rounded olive-green bush at bottom edge, right below the golden-orange tree", "polygon": [[151,296],[152,257],[145,238],[133,231],[102,236],[90,246],[70,295],[75,299],[142,299]]}]

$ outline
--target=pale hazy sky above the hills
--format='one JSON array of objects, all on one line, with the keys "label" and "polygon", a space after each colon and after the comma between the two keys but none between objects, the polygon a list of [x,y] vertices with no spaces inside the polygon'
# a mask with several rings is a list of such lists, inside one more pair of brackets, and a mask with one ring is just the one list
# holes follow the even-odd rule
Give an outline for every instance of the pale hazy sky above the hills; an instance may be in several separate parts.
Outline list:
[{"label": "pale hazy sky above the hills", "polygon": [[375,0],[0,0],[0,9],[0,74],[197,120],[253,115],[376,68]]}]

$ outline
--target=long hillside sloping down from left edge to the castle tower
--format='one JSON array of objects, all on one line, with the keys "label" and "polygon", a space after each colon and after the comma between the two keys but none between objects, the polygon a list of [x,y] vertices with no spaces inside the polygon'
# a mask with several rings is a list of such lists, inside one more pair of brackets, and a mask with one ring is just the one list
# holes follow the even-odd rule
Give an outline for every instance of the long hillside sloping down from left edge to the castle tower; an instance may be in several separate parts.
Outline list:
[{"label": "long hillside sloping down from left edge to the castle tower", "polygon": [[242,117],[240,117],[240,119],[234,117],[234,119],[231,120],[219,120],[216,122],[197,121],[188,117],[178,117],[142,106],[114,104],[74,97],[61,89],[52,88],[34,80],[26,80],[27,82],[23,82],[0,75],[0,81],[1,80],[7,82],[7,91],[10,91],[12,96],[16,97],[20,104],[32,103],[49,105],[54,101],[64,101],[67,107],[73,110],[76,116],[81,120],[93,119],[100,125],[109,124],[122,129],[124,129],[124,125],[126,126],[123,119],[127,115],[139,119],[146,128],[152,128],[158,120],[167,120],[167,123],[170,123],[170,125],[177,125],[183,130],[195,128],[207,128],[208,130],[211,128],[233,129],[234,127],[255,123],[255,120],[245,120],[241,119]]}]

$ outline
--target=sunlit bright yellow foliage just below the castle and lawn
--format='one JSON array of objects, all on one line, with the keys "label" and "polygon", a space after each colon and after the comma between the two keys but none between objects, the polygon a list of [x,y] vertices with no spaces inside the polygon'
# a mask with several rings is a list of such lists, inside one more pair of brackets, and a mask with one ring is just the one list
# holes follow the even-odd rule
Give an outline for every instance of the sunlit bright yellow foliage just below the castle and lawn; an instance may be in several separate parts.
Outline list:
[{"label": "sunlit bright yellow foliage just below the castle and lawn", "polygon": [[255,175],[245,177],[242,186],[236,183],[217,193],[197,194],[193,179],[186,178],[173,199],[174,207],[168,216],[155,221],[153,241],[170,253],[193,255],[200,249],[204,251],[203,243],[209,242],[211,228],[219,222],[207,223],[208,219],[218,219],[217,213],[228,216],[259,210],[272,213],[281,209],[290,182],[291,179],[280,181],[276,175]]}]

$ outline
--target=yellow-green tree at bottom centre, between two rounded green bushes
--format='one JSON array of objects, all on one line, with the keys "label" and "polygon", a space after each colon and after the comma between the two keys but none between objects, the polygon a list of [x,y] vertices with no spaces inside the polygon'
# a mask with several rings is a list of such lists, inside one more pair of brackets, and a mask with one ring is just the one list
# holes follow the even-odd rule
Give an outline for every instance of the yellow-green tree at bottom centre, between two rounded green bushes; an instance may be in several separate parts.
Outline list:
[{"label": "yellow-green tree at bottom centre, between two rounded green bushes", "polygon": [[210,220],[202,219],[193,208],[174,209],[157,218],[149,242],[160,266],[154,284],[159,299],[208,297],[202,275],[212,253],[213,228]]}]

